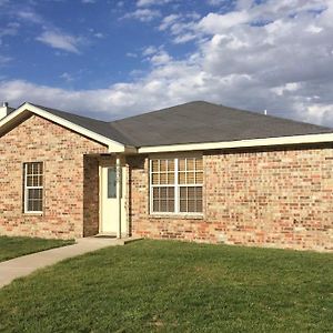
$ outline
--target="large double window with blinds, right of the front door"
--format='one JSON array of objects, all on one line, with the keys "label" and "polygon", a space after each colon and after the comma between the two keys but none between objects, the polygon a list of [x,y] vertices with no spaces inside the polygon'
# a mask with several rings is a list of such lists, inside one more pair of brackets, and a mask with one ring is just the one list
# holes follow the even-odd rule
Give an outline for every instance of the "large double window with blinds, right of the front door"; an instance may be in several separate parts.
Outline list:
[{"label": "large double window with blinds, right of the front door", "polygon": [[150,161],[151,212],[202,213],[202,158]]}]

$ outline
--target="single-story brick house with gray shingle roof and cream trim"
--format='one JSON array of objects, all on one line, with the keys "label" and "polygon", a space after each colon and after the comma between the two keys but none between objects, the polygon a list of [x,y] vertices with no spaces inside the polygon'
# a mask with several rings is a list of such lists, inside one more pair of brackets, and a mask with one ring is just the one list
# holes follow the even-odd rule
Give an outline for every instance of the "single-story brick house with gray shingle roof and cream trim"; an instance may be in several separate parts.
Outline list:
[{"label": "single-story brick house with gray shingle roof and cream trim", "polygon": [[333,130],[208,102],[0,108],[0,234],[333,250]]}]

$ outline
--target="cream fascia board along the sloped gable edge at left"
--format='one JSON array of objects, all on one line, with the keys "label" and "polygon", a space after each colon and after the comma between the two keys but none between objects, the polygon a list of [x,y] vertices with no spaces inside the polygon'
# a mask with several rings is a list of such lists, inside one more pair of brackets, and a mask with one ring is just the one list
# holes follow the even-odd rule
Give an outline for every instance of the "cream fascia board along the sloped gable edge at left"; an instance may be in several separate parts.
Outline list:
[{"label": "cream fascia board along the sloped gable edge at left", "polygon": [[14,119],[16,117],[18,117],[20,113],[24,112],[26,110],[36,113],[42,118],[46,118],[50,121],[53,121],[64,128],[68,128],[77,133],[80,133],[84,137],[88,137],[94,141],[98,141],[100,143],[103,143],[105,145],[108,145],[109,152],[125,152],[125,145],[113,141],[111,139],[108,139],[101,134],[94,133],[93,131],[90,131],[85,128],[82,128],[80,125],[77,125],[74,123],[72,123],[71,121],[68,121],[61,117],[54,115],[48,111],[44,111],[40,108],[37,108],[34,105],[31,105],[30,103],[24,103],[23,105],[21,105],[19,109],[17,109],[16,111],[13,111],[11,114],[9,114],[8,117],[6,117],[3,120],[0,121],[0,129],[2,125],[4,125],[6,123],[10,122],[12,119]]}]

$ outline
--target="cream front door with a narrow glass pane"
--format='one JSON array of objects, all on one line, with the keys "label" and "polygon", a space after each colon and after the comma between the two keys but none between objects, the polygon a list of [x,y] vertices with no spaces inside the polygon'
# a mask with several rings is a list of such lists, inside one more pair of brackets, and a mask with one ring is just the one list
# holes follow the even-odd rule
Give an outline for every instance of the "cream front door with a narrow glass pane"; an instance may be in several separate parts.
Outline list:
[{"label": "cream front door with a narrow glass pane", "polygon": [[100,167],[100,233],[124,236],[128,234],[127,168],[114,164]]}]

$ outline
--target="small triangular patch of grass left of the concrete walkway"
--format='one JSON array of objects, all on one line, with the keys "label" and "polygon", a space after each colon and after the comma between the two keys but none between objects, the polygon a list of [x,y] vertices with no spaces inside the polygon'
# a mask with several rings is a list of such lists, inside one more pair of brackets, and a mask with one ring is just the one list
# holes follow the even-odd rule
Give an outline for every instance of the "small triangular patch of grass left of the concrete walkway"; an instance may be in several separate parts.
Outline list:
[{"label": "small triangular patch of grass left of the concrete walkway", "polygon": [[52,248],[69,245],[73,243],[74,241],[0,236],[0,262],[20,255],[34,253]]}]

